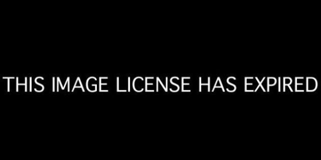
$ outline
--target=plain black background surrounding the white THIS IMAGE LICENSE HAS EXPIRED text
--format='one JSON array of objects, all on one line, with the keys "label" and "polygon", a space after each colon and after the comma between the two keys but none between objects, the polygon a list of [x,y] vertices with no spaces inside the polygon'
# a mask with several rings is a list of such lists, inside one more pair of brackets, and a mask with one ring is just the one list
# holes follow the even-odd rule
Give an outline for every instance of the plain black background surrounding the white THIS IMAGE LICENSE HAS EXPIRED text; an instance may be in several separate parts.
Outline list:
[{"label": "plain black background surrounding the white THIS IMAGE LICENSE HAS EXPIRED text", "polygon": [[3,83],[6,150],[119,156],[314,152],[318,91],[244,93],[242,78],[319,79],[317,10],[190,5],[22,5],[4,11],[1,76],[238,79],[238,91],[224,94],[6,93]]}]

